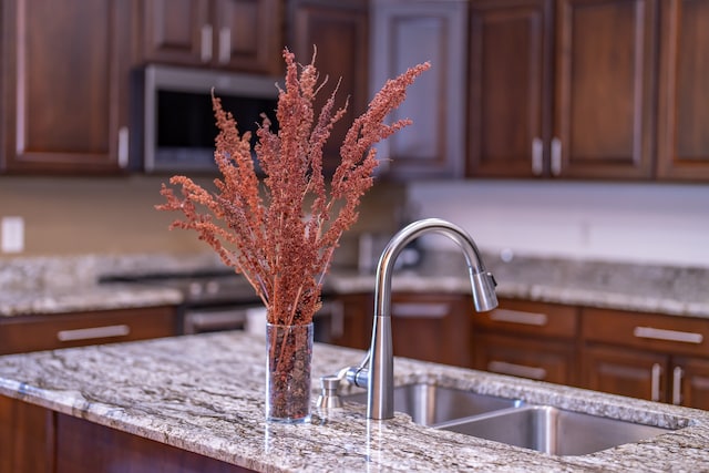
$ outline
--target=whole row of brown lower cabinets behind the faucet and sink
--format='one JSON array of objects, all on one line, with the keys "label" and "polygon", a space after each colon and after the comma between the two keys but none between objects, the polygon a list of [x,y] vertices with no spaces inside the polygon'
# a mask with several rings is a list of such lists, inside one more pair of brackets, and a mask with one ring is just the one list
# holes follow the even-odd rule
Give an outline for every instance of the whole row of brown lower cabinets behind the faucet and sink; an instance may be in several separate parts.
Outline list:
[{"label": "whole row of brown lower cabinets behind the faucet and sink", "polygon": [[[373,299],[348,295],[342,336],[367,349]],[[500,299],[394,292],[394,356],[709,410],[709,319]]]}]

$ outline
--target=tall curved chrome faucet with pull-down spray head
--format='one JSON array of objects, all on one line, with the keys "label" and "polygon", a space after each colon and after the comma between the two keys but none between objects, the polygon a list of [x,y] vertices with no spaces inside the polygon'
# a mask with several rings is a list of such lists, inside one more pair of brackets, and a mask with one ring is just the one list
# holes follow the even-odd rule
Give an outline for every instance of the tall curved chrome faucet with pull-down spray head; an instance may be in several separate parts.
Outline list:
[{"label": "tall curved chrome faucet with pull-down spray head", "polygon": [[440,233],[455,241],[465,256],[473,289],[473,302],[479,312],[497,307],[495,279],[480,257],[473,239],[462,228],[439,219],[414,222],[401,229],[384,248],[377,265],[374,288],[374,325],[369,351],[357,367],[347,368],[347,381],[367,388],[367,418],[391,419],[393,410],[393,349],[391,338],[391,278],[401,250],[427,233]]}]

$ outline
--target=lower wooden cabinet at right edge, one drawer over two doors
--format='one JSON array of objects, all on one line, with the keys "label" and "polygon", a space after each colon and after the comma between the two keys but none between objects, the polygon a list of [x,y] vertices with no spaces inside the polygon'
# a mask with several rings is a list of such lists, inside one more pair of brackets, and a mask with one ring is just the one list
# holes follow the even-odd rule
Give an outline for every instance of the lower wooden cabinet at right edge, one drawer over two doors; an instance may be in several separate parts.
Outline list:
[{"label": "lower wooden cabinet at right edge, one drawer over two doors", "polygon": [[709,407],[709,320],[584,309],[586,388]]}]

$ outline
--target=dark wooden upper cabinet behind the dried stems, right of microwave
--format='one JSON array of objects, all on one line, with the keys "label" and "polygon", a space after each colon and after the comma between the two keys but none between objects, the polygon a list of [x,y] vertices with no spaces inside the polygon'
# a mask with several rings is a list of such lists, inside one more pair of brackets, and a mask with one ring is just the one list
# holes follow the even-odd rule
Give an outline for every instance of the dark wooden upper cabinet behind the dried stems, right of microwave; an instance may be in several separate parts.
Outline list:
[{"label": "dark wooden upper cabinet behind the dried stems, right of microwave", "polygon": [[[340,146],[354,117],[369,103],[368,1],[294,0],[288,3],[288,44],[306,63],[317,49],[316,66],[327,84],[316,100],[320,110],[338,88],[338,106],[348,101],[345,116],[335,125],[325,146],[323,166],[333,171],[340,163]],[[338,84],[339,81],[339,84]]]}]

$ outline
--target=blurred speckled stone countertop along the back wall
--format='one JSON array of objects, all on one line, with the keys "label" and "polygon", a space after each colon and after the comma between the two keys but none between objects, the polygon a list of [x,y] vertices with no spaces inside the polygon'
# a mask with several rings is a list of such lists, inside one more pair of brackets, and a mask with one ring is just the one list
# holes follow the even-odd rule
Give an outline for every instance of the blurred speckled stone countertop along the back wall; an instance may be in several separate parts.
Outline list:
[{"label": "blurred speckled stone countertop along the back wall", "polygon": [[[709,268],[670,267],[499,255],[483,257],[501,297],[709,318]],[[507,258],[505,258],[507,259]],[[173,289],[97,285],[105,275],[185,273],[222,268],[213,254],[78,256],[0,259],[0,317],[179,304]],[[335,268],[335,294],[372,292],[374,277]],[[394,290],[470,292],[463,258],[428,254],[421,267],[398,273]]]}]

